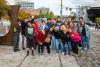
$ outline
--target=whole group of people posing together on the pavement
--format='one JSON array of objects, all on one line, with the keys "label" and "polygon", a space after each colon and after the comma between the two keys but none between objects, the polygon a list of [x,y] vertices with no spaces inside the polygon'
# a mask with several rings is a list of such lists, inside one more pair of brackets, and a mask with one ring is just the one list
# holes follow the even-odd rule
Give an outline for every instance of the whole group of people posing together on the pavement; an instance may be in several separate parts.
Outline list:
[{"label": "whole group of people posing together on the pavement", "polygon": [[19,51],[19,35],[22,35],[22,49],[26,37],[27,56],[34,55],[34,50],[39,55],[44,55],[44,47],[50,54],[53,50],[56,54],[78,55],[78,47],[83,51],[90,49],[90,29],[82,17],[76,23],[70,16],[62,21],[61,17],[48,18],[47,21],[39,21],[38,18],[17,22],[14,26],[13,46],[14,52]]}]

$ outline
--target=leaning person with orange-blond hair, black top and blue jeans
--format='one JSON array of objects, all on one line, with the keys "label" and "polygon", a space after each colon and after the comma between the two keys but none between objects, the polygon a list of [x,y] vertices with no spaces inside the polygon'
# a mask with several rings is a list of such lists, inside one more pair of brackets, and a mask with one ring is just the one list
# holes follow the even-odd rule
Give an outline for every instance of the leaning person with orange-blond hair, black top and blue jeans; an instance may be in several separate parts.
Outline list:
[{"label": "leaning person with orange-blond hair, black top and blue jeans", "polygon": [[68,26],[67,27],[65,25],[61,26],[60,37],[62,40],[62,45],[63,45],[62,49],[64,55],[70,54],[71,44],[69,44],[70,38],[68,37]]}]

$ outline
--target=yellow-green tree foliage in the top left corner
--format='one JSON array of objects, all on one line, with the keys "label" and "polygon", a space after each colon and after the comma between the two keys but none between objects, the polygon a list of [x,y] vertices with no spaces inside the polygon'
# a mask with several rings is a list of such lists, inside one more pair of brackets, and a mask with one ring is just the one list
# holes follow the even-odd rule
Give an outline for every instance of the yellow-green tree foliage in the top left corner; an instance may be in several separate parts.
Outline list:
[{"label": "yellow-green tree foliage in the top left corner", "polygon": [[9,7],[5,0],[0,0],[0,19],[2,16],[7,14],[9,11]]}]

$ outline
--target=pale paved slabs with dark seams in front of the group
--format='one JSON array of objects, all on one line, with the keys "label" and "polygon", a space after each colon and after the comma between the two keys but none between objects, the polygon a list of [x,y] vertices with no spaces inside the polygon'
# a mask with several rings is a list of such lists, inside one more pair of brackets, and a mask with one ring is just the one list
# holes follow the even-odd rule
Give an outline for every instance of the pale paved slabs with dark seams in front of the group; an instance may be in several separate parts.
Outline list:
[{"label": "pale paved slabs with dark seams in front of the group", "polygon": [[[30,55],[23,61],[25,55],[26,51],[14,53],[11,46],[0,46],[0,67],[61,67],[59,55],[54,53],[39,56],[35,51],[35,56]],[[63,67],[79,67],[73,56],[61,55],[61,60]]]}]

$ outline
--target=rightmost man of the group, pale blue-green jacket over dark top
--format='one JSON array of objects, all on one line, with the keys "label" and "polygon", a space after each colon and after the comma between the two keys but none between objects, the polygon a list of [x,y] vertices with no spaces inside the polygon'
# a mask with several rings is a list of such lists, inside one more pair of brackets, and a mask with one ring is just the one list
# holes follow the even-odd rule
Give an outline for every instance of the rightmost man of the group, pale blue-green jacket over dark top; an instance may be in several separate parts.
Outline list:
[{"label": "rightmost man of the group, pale blue-green jacket over dark top", "polygon": [[86,48],[88,50],[90,48],[90,29],[85,24],[85,21],[82,17],[79,18],[77,29],[82,38],[82,49],[84,50]]}]

